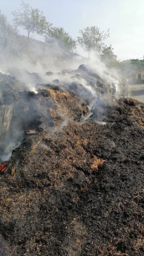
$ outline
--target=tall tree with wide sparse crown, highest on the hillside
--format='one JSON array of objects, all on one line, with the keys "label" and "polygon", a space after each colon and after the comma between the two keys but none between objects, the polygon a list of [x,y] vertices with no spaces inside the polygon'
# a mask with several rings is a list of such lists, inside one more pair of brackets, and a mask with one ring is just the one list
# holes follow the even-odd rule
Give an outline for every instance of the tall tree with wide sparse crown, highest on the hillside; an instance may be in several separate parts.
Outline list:
[{"label": "tall tree with wide sparse crown, highest on the hillside", "polygon": [[46,21],[46,17],[43,16],[42,11],[33,9],[23,1],[21,3],[21,9],[18,12],[12,12],[12,15],[14,16],[15,25],[27,30],[28,38],[31,32],[43,35],[52,25]]}]

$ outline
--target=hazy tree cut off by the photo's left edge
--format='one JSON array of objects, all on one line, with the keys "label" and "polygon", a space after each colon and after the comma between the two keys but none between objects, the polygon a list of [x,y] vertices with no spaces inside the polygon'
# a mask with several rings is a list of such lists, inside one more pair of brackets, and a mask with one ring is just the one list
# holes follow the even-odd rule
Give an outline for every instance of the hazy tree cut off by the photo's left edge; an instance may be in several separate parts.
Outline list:
[{"label": "hazy tree cut off by the photo's left edge", "polygon": [[3,49],[16,41],[17,29],[12,26],[6,16],[0,11],[0,47]]}]

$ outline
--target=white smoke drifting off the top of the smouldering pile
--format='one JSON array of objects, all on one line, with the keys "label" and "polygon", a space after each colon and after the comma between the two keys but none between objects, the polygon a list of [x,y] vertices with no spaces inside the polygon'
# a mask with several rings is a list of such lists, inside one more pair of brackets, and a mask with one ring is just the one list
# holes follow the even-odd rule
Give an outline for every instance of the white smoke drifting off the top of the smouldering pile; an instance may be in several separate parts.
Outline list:
[{"label": "white smoke drifting off the top of the smouldering pile", "polygon": [[[20,43],[22,43],[21,48]],[[86,121],[92,115],[98,96],[95,92],[95,87],[89,84],[87,79],[81,77],[81,72],[78,70],[81,64],[86,64],[89,70],[100,76],[107,84],[114,85],[116,93],[119,90],[118,75],[114,70],[109,71],[104,63],[94,55],[88,61],[87,58],[65,52],[58,46],[57,48],[52,47],[46,43],[26,37],[19,37],[19,41],[16,44],[15,48],[18,49],[17,54],[14,54],[13,51],[11,52],[11,49],[9,49],[9,54],[6,54],[6,49],[0,51],[0,71],[14,76],[17,80],[19,91],[29,90],[37,93],[39,87],[42,88],[45,84],[55,84],[53,82],[55,79],[59,80],[58,86],[60,89],[65,91],[69,88],[68,84],[78,84],[78,95],[83,98],[83,91],[85,91],[90,99],[88,105],[89,113],[87,116],[81,117],[82,122]],[[52,72],[51,75],[46,75],[46,72],[49,71]],[[62,120],[61,125],[55,127],[55,131],[61,131],[64,126],[68,125],[71,117],[64,116]],[[17,138],[15,141],[17,141]],[[12,149],[15,147],[15,141],[12,140],[9,142],[6,148],[7,153],[3,156],[4,159],[10,157]]]}]

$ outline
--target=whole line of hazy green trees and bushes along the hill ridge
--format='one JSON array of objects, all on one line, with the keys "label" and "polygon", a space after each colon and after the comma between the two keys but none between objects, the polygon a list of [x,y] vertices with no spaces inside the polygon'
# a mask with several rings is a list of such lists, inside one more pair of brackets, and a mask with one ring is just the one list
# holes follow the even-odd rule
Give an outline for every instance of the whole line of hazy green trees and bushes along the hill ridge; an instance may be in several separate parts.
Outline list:
[{"label": "whole line of hazy green trees and bushes along the hill ridge", "polygon": [[79,30],[79,35],[73,39],[63,27],[55,27],[46,20],[43,12],[32,8],[29,4],[21,2],[21,8],[13,11],[13,24],[0,11],[0,50],[11,49],[18,51],[15,47],[19,37],[18,29],[27,31],[29,38],[34,33],[43,36],[45,42],[64,49],[67,52],[75,52],[79,45],[88,53],[88,58],[92,55],[98,56],[109,68],[115,68],[123,78],[144,67],[144,60],[131,59],[119,61],[113,52],[112,45],[105,42],[110,37],[109,29],[107,32],[101,31],[97,26],[90,26]]}]

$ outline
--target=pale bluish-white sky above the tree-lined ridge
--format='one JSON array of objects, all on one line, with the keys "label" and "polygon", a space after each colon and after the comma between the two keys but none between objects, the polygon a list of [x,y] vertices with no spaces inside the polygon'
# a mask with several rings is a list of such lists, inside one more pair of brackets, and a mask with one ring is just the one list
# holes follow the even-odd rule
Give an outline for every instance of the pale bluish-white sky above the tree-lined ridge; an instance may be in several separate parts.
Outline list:
[{"label": "pale bluish-white sky above the tree-lined ridge", "polygon": [[[0,9],[11,21],[12,11],[20,9],[21,0],[0,0]],[[109,29],[119,60],[141,58],[144,55],[144,0],[24,0],[43,11],[53,26],[63,27],[72,38],[86,26]],[[21,35],[23,32],[20,30]],[[26,35],[26,34],[25,34]],[[78,49],[78,53],[82,53]]]}]

